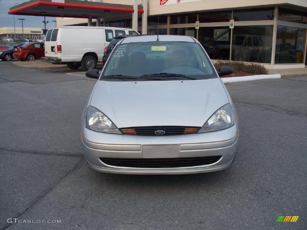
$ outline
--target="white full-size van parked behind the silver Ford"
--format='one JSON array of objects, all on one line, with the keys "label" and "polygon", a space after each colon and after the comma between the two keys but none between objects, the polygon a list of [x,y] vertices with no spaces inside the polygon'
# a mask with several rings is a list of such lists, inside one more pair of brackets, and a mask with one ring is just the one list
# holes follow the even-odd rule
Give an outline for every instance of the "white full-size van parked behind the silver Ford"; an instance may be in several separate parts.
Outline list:
[{"label": "white full-size van parked behind the silver Ford", "polygon": [[53,64],[67,64],[70,69],[95,69],[102,62],[104,48],[114,37],[138,35],[133,29],[94,26],[59,26],[50,28],[45,37],[45,57]]}]

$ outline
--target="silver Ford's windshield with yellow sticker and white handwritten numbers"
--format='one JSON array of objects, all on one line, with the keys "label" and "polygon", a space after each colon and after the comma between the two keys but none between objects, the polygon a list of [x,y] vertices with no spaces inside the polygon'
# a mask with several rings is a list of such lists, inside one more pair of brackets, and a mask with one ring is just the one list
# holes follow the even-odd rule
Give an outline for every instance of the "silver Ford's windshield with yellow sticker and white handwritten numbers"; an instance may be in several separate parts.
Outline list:
[{"label": "silver Ford's windshield with yellow sticker and white handwritten numbers", "polygon": [[217,75],[198,43],[157,41],[117,45],[100,80],[116,78],[194,80],[217,78]]}]

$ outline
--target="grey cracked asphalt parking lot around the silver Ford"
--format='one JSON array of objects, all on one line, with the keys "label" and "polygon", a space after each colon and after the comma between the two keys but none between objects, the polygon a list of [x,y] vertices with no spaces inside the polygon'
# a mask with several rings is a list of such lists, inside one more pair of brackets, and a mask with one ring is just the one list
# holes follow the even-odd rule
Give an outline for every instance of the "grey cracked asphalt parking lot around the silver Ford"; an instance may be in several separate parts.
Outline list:
[{"label": "grey cracked asphalt parking lot around the silver Ford", "polygon": [[235,161],[189,175],[87,167],[80,115],[94,84],[82,70],[0,62],[0,229],[306,229],[307,76],[227,84]]}]

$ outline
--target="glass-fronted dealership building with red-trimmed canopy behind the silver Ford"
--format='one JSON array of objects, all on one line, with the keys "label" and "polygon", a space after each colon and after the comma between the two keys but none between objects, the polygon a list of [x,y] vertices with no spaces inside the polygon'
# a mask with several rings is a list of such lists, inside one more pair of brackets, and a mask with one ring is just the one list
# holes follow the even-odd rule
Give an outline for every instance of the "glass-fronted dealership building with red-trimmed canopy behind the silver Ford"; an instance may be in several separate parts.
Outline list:
[{"label": "glass-fronted dealership building with red-trimmed canopy behind the silver Ford", "polygon": [[307,65],[307,0],[31,0],[9,13],[56,16],[58,26],[193,36],[212,59]]}]

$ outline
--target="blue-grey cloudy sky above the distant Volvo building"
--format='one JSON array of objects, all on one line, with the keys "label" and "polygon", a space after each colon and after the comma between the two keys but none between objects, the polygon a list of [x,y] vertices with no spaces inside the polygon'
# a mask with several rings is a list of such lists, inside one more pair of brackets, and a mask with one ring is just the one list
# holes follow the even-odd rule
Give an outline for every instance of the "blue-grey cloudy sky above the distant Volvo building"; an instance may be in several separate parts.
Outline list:
[{"label": "blue-grey cloudy sky above the distant Volvo building", "polygon": [[[14,26],[13,15],[8,14],[7,12],[10,10],[10,7],[15,6],[16,3],[23,3],[27,2],[25,0],[0,0],[0,27],[6,26]],[[40,27],[44,29],[45,25],[43,23],[44,17],[40,16],[24,16],[24,15],[15,15],[15,26],[21,27],[21,21],[18,18],[24,18],[23,26],[24,27]],[[46,29],[55,26],[55,22],[52,20],[56,20],[55,17],[46,17],[46,21],[49,21],[46,24]]]}]

